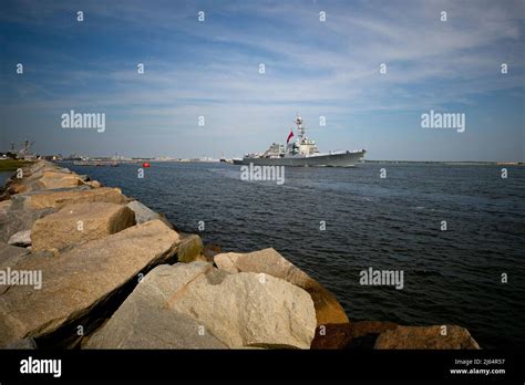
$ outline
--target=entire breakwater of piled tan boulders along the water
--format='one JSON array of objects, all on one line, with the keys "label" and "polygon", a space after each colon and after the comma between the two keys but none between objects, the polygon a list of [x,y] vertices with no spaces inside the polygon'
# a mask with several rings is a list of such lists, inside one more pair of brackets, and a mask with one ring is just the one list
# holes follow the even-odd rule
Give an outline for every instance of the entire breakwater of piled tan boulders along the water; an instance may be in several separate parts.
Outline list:
[{"label": "entire breakwater of piled tan boulders along the water", "polygon": [[[222,253],[86,176],[38,162],[0,201],[0,346],[476,348],[469,332],[350,322],[274,249]],[[379,336],[378,336],[379,335]]]}]

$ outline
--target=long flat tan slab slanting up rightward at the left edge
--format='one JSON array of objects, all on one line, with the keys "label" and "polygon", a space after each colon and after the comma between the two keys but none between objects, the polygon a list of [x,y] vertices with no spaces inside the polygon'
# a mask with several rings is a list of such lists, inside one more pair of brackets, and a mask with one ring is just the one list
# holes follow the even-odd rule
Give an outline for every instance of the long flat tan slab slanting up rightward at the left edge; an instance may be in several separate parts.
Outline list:
[{"label": "long flat tan slab slanting up rightward at the left edge", "polygon": [[[96,305],[107,303],[148,267],[173,259],[178,235],[159,220],[78,246],[55,258],[32,254],[13,270],[41,271],[41,290],[11,285],[0,295],[0,346],[74,325],[87,330]],[[74,332],[72,332],[74,334]]]}]

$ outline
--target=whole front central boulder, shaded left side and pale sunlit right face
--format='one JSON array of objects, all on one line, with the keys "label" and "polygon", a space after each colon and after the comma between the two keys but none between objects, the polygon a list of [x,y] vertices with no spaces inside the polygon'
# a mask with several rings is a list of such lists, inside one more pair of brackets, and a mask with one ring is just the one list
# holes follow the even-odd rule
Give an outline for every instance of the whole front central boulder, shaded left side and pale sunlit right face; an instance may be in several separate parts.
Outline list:
[{"label": "whole front central boulder, shaded left side and pale sunlit right face", "polygon": [[[143,308],[142,303],[151,306]],[[185,330],[187,319],[182,319],[181,325],[179,314],[193,319],[203,335],[209,334],[229,347],[308,348],[316,329],[313,303],[302,289],[267,274],[229,274],[206,262],[155,268],[121,309],[95,333],[87,347],[135,346],[138,337],[125,335],[125,331],[164,331],[164,322],[169,319],[176,320],[176,327]],[[151,314],[138,315],[143,311]],[[138,325],[138,320],[145,319],[147,324]],[[189,323],[185,346],[202,346],[206,341],[196,334],[195,323]],[[155,342],[148,346],[163,347],[176,344],[172,339],[181,331],[146,333],[155,333]]]}]

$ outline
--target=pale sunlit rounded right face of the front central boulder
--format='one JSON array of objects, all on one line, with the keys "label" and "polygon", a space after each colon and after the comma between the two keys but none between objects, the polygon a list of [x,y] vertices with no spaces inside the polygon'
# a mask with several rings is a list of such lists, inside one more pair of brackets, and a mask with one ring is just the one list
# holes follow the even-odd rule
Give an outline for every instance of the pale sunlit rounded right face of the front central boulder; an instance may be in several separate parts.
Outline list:
[{"label": "pale sunlit rounded right face of the front central boulder", "polygon": [[[171,270],[176,277],[184,266],[163,267],[163,274]],[[166,298],[167,306],[193,316],[230,347],[309,348],[316,330],[308,293],[268,274],[228,274],[208,268]]]}]

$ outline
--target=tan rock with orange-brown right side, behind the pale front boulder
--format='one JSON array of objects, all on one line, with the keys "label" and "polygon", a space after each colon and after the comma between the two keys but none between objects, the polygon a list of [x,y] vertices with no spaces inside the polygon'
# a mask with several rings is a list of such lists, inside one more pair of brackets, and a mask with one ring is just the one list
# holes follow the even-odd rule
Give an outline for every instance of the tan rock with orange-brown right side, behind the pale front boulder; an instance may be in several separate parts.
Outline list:
[{"label": "tan rock with orange-brown right side, behind the pale front boulder", "polygon": [[[320,337],[325,337],[327,342],[317,345],[331,348],[344,345],[346,341],[339,342],[337,339],[332,339],[330,331],[334,329],[328,327],[331,324],[348,324],[350,322],[336,296],[276,250],[270,248],[249,253],[227,252],[215,256],[214,261],[219,269],[231,273],[238,271],[264,272],[305,289],[313,300],[318,327],[321,325],[326,327],[325,335],[318,334]],[[329,346],[327,345],[328,341],[331,341]]]}]

